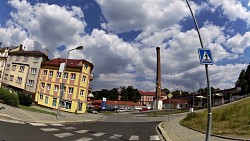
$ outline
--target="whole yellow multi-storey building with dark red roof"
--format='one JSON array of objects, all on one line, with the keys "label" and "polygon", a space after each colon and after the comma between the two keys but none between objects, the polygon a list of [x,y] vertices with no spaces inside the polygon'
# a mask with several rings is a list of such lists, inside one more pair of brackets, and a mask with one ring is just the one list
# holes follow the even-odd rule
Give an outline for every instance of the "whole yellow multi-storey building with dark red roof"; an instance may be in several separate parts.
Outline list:
[{"label": "whole yellow multi-storey building with dark red roof", "polygon": [[58,108],[60,84],[64,84],[61,110],[85,113],[87,96],[91,93],[93,64],[86,60],[67,59],[63,74],[59,72],[66,59],[56,58],[42,63],[36,89],[37,104]]}]

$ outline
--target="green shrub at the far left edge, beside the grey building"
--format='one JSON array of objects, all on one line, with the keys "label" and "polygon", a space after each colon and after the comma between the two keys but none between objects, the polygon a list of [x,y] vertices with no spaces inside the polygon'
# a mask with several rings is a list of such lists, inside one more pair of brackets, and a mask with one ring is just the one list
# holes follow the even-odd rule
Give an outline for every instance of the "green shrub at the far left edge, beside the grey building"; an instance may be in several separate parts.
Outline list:
[{"label": "green shrub at the far left edge, beside the grey building", "polygon": [[17,95],[10,93],[9,90],[6,89],[0,89],[0,100],[2,100],[3,103],[7,105],[15,107],[18,105]]}]

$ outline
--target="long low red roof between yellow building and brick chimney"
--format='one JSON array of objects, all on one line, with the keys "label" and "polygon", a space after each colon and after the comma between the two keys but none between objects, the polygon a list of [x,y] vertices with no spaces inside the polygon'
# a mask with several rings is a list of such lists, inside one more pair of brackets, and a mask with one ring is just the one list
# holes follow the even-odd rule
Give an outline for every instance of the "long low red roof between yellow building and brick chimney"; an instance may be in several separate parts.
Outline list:
[{"label": "long low red roof between yellow building and brick chimney", "polygon": [[[102,104],[102,100],[94,100],[94,105]],[[135,103],[132,101],[119,101],[119,100],[107,100],[106,104],[109,105],[127,105],[127,106],[141,106],[139,103]]]}]

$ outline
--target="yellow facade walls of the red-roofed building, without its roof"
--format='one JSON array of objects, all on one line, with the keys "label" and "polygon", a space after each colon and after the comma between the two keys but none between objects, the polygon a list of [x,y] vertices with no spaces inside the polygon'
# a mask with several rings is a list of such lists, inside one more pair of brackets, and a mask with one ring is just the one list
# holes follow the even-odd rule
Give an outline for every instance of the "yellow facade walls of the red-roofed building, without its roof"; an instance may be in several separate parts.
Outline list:
[{"label": "yellow facade walls of the red-roofed building, without its roof", "polygon": [[[59,73],[58,70],[59,67],[53,66],[43,66],[41,68],[36,90],[36,102],[39,105],[57,109],[60,97],[60,83],[64,83],[65,88],[62,98],[64,102],[62,102],[63,107],[61,110],[85,113],[87,95],[91,91],[91,89],[89,89],[91,67],[85,67],[83,64],[83,67],[80,69],[66,68],[64,73],[61,73],[61,77],[57,75],[57,73]],[[46,75],[44,71],[47,71]],[[52,73],[53,75],[50,75]],[[68,74],[67,78],[64,78],[65,74]],[[72,75],[75,75],[75,79],[72,79]],[[50,85],[50,89],[47,89],[48,85]],[[57,87],[57,90],[55,90],[55,87]],[[73,93],[69,92],[69,88],[73,88]],[[71,103],[70,107],[68,103]],[[82,108],[80,108],[79,104],[82,105]]]}]

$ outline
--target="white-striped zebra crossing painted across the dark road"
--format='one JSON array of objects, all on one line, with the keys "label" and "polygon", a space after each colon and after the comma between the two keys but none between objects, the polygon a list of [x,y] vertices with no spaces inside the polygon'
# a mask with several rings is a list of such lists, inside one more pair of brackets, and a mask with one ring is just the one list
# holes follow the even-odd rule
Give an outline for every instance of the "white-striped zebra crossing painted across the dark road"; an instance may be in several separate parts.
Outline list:
[{"label": "white-striped zebra crossing painted across the dark road", "polygon": [[[74,139],[73,141],[92,141],[95,140],[95,138],[106,136],[106,140],[120,140],[121,138],[124,138],[123,135],[120,134],[106,134],[103,132],[94,132],[87,129],[77,129],[75,127],[71,126],[65,126],[64,124],[44,124],[44,123],[29,123],[32,126],[39,127],[40,130],[44,132],[50,132],[53,134],[53,136],[64,139],[67,137],[72,137],[74,135],[83,135],[80,138]],[[139,135],[130,135],[128,138],[130,141],[137,141],[140,140]],[[160,140],[158,135],[150,135],[149,139],[150,141],[158,141]]]}]

